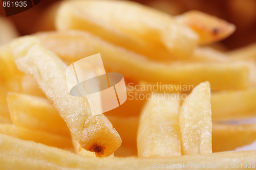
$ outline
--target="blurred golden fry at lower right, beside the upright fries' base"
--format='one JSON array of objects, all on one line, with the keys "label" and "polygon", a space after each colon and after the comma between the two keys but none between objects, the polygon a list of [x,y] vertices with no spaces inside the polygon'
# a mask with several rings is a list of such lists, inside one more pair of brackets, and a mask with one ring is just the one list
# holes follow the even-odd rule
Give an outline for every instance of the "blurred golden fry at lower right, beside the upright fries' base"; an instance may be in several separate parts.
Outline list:
[{"label": "blurred golden fry at lower right, beside the upright fries' base", "polygon": [[234,150],[256,140],[256,124],[212,124],[212,152]]}]

